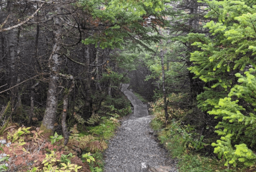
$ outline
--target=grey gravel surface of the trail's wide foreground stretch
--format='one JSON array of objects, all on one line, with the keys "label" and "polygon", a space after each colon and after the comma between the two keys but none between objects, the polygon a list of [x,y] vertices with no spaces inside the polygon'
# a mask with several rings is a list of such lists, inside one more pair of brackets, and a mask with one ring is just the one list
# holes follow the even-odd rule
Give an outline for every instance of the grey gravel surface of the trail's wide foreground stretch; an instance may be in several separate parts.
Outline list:
[{"label": "grey gravel surface of the trail's wide foreground stretch", "polygon": [[116,136],[110,140],[104,152],[104,172],[115,172],[127,165],[147,162],[150,166],[169,166],[169,170],[178,171],[176,161],[168,157],[149,126],[153,116],[137,118],[133,115],[124,118]]}]

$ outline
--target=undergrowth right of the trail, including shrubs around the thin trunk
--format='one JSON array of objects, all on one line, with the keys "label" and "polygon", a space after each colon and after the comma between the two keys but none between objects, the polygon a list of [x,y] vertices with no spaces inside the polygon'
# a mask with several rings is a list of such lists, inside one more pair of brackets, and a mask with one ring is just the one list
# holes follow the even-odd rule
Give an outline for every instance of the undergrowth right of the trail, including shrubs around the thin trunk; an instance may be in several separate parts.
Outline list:
[{"label": "undergrowth right of the trail, including shrubs around the thin trunk", "polygon": [[[169,100],[173,102],[179,102],[180,99],[182,99],[182,95],[172,94],[169,96]],[[181,110],[179,106],[172,105],[171,102],[168,106],[170,119],[167,125],[161,98],[152,103],[151,111],[155,115],[151,127],[158,131],[158,140],[168,150],[170,156],[179,160],[178,168],[180,172],[256,171],[255,165],[251,167],[225,166],[225,159],[218,159],[215,154],[207,152],[211,146],[212,138],[205,138],[194,125],[185,124],[181,120],[184,119],[188,110]]]}]

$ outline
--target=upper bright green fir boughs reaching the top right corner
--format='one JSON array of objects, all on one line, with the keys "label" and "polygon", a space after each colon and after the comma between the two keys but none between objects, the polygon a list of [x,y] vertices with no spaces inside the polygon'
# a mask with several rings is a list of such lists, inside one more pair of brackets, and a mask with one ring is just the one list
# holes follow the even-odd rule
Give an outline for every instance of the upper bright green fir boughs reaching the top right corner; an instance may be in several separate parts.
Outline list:
[{"label": "upper bright green fir boughs reaching the top right corner", "polygon": [[218,22],[211,20],[204,26],[209,29],[210,37],[188,34],[189,39],[196,40],[192,45],[200,48],[191,53],[190,60],[195,66],[188,69],[196,75],[195,78],[210,83],[210,87],[198,97],[199,107],[207,111],[217,105],[218,100],[224,98],[227,90],[236,83],[235,73],[248,65],[255,67],[253,46],[256,42],[253,37],[256,34],[253,26],[256,18],[253,14],[256,9],[246,0],[203,2],[211,9],[206,17]]}]

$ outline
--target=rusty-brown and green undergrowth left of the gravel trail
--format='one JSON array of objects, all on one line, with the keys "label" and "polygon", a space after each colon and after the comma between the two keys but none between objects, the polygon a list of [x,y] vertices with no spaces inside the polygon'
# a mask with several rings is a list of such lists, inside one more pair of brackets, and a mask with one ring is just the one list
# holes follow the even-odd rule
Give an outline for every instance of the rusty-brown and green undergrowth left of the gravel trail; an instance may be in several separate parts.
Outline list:
[{"label": "rusty-brown and green undergrowth left of the gravel trail", "polygon": [[0,140],[11,144],[0,145],[0,171],[103,171],[107,140],[120,125],[118,119],[131,113],[130,106],[118,109],[104,103],[93,119],[78,116],[67,145],[57,133],[49,138],[39,127],[8,124]]}]

